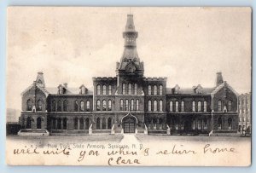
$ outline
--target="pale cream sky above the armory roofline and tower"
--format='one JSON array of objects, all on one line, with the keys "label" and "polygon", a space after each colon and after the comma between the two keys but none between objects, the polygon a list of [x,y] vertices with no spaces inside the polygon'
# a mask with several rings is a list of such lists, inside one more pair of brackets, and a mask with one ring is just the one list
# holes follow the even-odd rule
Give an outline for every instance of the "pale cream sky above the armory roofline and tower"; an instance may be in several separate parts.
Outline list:
[{"label": "pale cream sky above the armory roofline and tower", "polygon": [[[46,87],[92,87],[114,77],[124,50],[129,8],[11,7],[8,9],[7,107],[44,72]],[[131,8],[145,77],[215,86],[216,72],[239,94],[251,91],[251,9]]]}]

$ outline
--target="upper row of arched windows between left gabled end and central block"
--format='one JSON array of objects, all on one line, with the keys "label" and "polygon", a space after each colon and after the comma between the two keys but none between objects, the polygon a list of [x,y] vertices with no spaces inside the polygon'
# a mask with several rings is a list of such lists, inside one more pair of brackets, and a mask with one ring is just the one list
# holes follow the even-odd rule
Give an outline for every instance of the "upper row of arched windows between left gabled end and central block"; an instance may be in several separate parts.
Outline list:
[{"label": "upper row of arched windows between left gabled end and central block", "polygon": [[[86,104],[85,104],[86,103]],[[67,112],[68,102],[65,101],[52,101],[51,111],[52,112]],[[89,112],[90,111],[90,101],[74,101],[74,112]]]}]

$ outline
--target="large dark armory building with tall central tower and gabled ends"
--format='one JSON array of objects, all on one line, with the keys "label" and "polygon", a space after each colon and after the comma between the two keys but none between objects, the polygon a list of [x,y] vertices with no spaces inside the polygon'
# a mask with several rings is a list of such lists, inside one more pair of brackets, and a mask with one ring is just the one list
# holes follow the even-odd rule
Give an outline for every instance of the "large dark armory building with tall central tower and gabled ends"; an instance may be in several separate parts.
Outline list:
[{"label": "large dark armory building with tall central tower and gabled ends", "polygon": [[20,134],[236,134],[237,93],[217,73],[216,85],[166,88],[167,78],[144,77],[133,15],[115,77],[93,78],[93,89],[47,88],[43,72],[22,92]]}]

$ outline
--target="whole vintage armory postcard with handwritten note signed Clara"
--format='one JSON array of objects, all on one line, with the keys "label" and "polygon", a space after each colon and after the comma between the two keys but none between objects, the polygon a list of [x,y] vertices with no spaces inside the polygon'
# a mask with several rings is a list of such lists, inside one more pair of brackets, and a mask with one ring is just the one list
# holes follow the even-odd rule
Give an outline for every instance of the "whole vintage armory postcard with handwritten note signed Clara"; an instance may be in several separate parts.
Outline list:
[{"label": "whole vintage armory postcard with handwritten note signed Clara", "polygon": [[7,164],[251,164],[251,8],[9,7],[7,32]]}]

